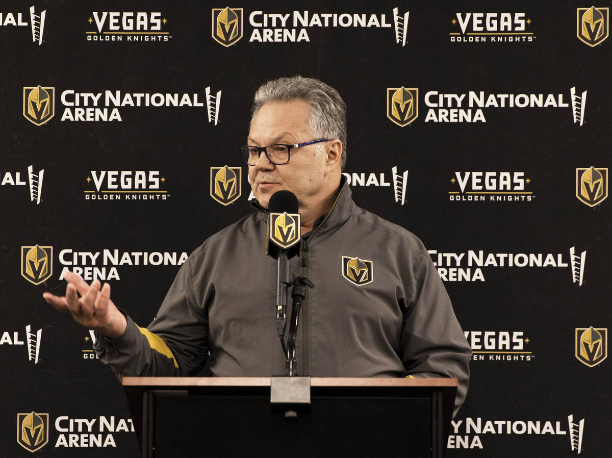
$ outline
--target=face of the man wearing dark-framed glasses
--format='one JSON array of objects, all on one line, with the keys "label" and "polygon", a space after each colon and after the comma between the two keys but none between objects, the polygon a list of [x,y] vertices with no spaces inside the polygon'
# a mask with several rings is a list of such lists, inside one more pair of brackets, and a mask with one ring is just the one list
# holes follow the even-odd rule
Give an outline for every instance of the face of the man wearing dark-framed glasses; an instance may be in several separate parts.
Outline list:
[{"label": "face of the man wearing dark-framed glasses", "polygon": [[[319,140],[310,130],[310,105],[304,100],[266,103],[253,118],[248,145],[268,146],[277,143],[295,145]],[[291,149],[289,162],[271,163],[261,154],[255,165],[248,166],[248,177],[259,204],[267,208],[278,190],[293,192],[300,208],[321,199],[327,154],[318,145]]]}]

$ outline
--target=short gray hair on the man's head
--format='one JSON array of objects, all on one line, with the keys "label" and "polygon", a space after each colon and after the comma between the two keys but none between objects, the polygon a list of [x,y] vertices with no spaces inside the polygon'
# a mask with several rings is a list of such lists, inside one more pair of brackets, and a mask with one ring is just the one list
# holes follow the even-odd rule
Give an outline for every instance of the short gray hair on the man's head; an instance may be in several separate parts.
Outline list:
[{"label": "short gray hair on the man's head", "polygon": [[292,78],[278,78],[266,81],[255,92],[251,122],[255,114],[266,103],[304,100],[310,104],[310,129],[322,138],[342,143],[340,170],[346,164],[346,105],[336,91],[323,81],[296,75]]}]

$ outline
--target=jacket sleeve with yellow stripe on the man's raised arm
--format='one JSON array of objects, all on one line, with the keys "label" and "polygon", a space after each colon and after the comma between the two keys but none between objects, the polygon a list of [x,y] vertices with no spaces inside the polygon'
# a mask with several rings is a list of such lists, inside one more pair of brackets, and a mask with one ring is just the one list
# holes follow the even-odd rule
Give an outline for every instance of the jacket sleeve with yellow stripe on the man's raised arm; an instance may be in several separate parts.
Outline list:
[{"label": "jacket sleeve with yellow stripe on the man's raised arm", "polygon": [[127,319],[125,332],[114,339],[96,336],[94,350],[100,361],[133,377],[197,374],[208,355],[208,317],[196,299],[192,275],[187,260],[147,329],[122,310]]}]

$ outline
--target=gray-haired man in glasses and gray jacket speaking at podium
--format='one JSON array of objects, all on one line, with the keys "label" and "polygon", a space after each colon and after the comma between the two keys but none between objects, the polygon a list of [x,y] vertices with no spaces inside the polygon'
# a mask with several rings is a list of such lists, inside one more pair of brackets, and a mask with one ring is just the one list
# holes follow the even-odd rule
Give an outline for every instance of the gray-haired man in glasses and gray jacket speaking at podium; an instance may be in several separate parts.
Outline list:
[{"label": "gray-haired man in glasses and gray jacket speaking at podium", "polygon": [[419,239],[351,199],[341,179],[345,111],[318,80],[280,78],[258,89],[241,148],[258,211],[192,253],[148,329],[119,311],[98,280],[88,286],[66,274],[66,296],[45,299],[94,329],[100,359],[126,375],[195,375],[207,358],[212,375],[283,375],[276,263],[263,247],[270,197],[289,190],[303,235],[291,270],[315,285],[302,304],[298,373],[457,377],[456,412],[471,350]]}]

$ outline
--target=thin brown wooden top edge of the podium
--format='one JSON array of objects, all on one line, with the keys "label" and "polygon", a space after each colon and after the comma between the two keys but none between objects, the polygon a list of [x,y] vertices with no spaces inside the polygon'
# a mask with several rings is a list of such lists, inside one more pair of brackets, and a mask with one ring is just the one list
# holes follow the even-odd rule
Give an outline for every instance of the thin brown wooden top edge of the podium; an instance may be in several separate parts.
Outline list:
[{"label": "thin brown wooden top edge of the podium", "polygon": [[[270,386],[271,377],[124,377],[124,386]],[[457,378],[311,377],[310,386],[457,387]]]}]

